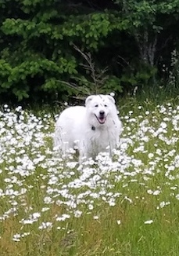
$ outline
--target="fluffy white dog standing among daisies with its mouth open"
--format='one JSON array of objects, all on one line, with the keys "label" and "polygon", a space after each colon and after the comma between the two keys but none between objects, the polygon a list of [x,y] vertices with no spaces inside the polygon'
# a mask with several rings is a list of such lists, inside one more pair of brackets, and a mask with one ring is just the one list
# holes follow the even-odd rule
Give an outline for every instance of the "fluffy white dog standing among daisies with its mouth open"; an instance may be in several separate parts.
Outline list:
[{"label": "fluffy white dog standing among daisies with its mouth open", "polygon": [[118,146],[122,124],[117,115],[114,98],[109,95],[91,95],[85,107],[66,108],[55,124],[54,146],[63,154],[78,148],[79,162],[99,152],[109,152]]}]

